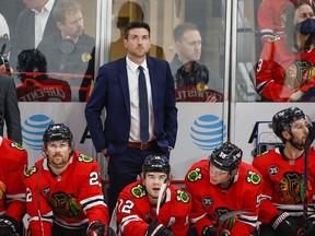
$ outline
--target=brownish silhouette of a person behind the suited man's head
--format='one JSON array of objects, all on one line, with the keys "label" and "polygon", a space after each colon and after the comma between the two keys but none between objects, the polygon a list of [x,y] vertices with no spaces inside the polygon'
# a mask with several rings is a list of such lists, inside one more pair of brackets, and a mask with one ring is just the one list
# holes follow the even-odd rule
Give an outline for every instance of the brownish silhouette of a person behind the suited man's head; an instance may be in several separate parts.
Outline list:
[{"label": "brownish silhouette of a person behind the suited man's head", "polygon": [[[124,45],[125,27],[127,24],[132,21],[143,22],[143,10],[137,2],[128,1],[120,7],[117,20],[117,28],[120,32],[120,36],[110,44],[110,61],[117,60],[127,54],[127,49],[121,47],[121,45]],[[150,57],[165,59],[163,48],[154,44],[151,44],[148,55]]]}]

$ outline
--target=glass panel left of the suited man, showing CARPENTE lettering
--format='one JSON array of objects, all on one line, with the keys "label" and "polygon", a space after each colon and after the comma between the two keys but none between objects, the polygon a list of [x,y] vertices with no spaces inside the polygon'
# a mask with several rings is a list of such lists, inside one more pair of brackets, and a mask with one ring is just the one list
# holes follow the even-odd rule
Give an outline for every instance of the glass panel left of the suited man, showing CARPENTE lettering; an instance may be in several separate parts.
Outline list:
[{"label": "glass panel left of the suited man, showing CARPENTE lettering", "polygon": [[20,102],[88,99],[94,79],[96,3],[49,0],[39,11],[26,2],[10,22],[9,62]]}]

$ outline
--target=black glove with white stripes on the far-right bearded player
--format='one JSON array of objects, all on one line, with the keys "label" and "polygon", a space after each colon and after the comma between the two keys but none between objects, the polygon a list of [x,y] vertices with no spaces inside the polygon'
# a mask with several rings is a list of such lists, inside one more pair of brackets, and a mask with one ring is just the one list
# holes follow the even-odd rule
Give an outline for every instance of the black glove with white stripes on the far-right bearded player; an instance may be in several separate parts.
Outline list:
[{"label": "black glove with white stripes on the far-right bearded player", "polygon": [[277,236],[296,235],[296,226],[290,221],[288,212],[279,212],[270,223],[276,231]]}]

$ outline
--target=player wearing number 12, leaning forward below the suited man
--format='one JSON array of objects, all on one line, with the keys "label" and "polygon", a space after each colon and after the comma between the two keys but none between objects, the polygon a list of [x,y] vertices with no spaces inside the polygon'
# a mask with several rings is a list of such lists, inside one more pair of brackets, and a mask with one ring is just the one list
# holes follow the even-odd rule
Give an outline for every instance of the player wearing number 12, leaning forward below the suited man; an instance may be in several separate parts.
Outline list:
[{"label": "player wearing number 12, leaning forward below the suited man", "polygon": [[142,179],[120,192],[116,213],[124,236],[186,235],[190,197],[183,189],[170,185],[170,172],[165,156],[149,155],[142,166]]}]

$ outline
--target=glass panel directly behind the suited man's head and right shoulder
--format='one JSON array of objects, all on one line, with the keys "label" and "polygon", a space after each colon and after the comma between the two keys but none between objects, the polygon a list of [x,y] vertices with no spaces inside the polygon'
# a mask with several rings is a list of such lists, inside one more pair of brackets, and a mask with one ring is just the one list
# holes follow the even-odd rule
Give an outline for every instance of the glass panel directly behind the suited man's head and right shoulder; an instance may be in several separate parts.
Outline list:
[{"label": "glass panel directly behind the suited man's head and right shoulder", "polygon": [[124,27],[130,21],[151,26],[149,56],[166,59],[177,102],[222,102],[224,1],[113,1],[110,60],[126,56]]}]

